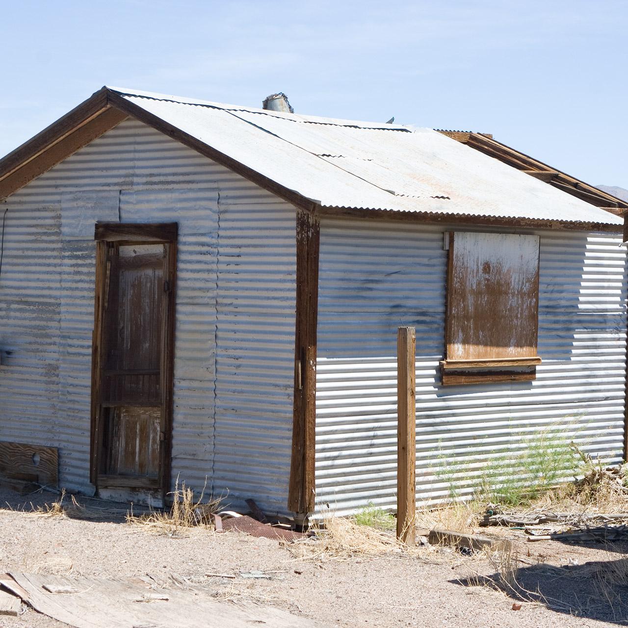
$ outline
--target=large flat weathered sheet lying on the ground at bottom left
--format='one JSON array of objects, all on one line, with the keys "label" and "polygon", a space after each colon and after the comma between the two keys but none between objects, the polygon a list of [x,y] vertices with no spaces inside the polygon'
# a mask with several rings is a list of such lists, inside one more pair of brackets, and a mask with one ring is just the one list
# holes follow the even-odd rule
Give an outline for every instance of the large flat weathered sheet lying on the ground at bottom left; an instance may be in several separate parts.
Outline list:
[{"label": "large flat weathered sheet lying on the ground at bottom left", "polygon": [[191,624],[195,628],[251,628],[254,624],[323,628],[313,620],[273,607],[216,600],[207,588],[192,585],[176,574],[146,580],[27,573],[9,576],[1,579],[4,587],[38,612],[75,628],[188,628]]}]

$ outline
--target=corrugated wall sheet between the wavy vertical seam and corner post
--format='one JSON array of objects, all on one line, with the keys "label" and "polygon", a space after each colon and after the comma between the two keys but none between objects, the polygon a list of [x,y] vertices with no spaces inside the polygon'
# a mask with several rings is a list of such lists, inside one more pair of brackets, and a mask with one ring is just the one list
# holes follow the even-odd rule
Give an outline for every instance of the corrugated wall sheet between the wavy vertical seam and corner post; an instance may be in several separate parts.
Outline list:
[{"label": "corrugated wall sheet between the wavy vertical seam and corner post", "polygon": [[215,482],[286,511],[292,445],[296,212],[220,195]]}]

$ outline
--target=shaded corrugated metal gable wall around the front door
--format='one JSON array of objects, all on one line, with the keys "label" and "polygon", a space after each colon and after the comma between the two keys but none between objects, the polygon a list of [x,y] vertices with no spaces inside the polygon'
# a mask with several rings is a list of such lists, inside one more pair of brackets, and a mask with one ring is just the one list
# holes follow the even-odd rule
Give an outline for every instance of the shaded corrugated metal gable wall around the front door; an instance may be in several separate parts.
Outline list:
[{"label": "shaded corrugated metal gable wall around the front door", "polygon": [[59,447],[61,484],[90,490],[94,222],[177,221],[173,479],[284,510],[294,208],[131,120],[6,207],[0,440]]}]

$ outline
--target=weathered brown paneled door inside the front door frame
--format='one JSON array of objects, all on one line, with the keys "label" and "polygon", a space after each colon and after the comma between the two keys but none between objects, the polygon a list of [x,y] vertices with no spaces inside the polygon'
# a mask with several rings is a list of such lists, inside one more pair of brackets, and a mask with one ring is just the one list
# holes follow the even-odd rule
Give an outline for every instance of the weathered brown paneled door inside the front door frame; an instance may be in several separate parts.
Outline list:
[{"label": "weathered brown paneled door inside the front door frame", "polygon": [[[158,483],[168,244],[113,244],[107,261],[100,474]],[[129,478],[130,479],[130,478]]]}]

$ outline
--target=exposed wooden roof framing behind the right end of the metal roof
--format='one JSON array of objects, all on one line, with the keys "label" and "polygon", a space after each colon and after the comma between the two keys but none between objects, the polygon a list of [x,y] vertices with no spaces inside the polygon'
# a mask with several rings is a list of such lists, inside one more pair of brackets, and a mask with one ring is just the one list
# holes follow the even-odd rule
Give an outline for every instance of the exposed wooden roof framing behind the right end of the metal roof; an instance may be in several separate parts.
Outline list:
[{"label": "exposed wooden roof framing behind the right end of the metal roof", "polygon": [[546,181],[546,183],[563,190],[563,192],[567,192],[600,209],[604,209],[610,212],[610,214],[622,215],[628,210],[628,202],[625,202],[621,198],[614,197],[612,194],[604,192],[603,190],[598,190],[598,188],[593,185],[589,185],[560,170],[556,170],[556,168],[552,168],[542,161],[535,160],[529,155],[511,148],[511,146],[502,144],[493,139],[490,133],[437,130],[439,133],[449,138],[456,139],[458,142],[467,144],[481,153],[503,161],[527,175]]}]

